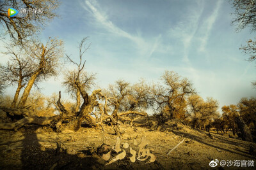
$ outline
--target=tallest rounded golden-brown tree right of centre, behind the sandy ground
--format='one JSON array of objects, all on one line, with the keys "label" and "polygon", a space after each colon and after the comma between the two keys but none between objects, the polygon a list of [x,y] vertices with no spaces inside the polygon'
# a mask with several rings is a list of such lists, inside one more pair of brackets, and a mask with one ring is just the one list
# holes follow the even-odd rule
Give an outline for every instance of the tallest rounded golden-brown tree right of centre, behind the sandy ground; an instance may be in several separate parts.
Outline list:
[{"label": "tallest rounded golden-brown tree right of centre, behind the sandy ground", "polygon": [[186,97],[194,94],[192,83],[173,71],[165,71],[161,77],[164,85],[154,85],[152,95],[156,111],[163,116],[163,110],[168,118],[184,118]]}]

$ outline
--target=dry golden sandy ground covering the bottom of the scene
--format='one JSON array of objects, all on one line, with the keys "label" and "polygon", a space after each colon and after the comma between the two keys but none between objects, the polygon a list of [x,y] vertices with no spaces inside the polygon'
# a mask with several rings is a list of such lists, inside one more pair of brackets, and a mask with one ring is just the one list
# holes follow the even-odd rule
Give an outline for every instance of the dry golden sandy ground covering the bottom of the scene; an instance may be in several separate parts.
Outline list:
[{"label": "dry golden sandy ground covering the bottom of the scene", "polygon": [[[213,169],[209,162],[215,159],[255,161],[255,155],[249,154],[250,143],[208,134],[186,126],[179,131],[149,131],[145,127],[128,126],[121,138],[121,143],[129,144],[129,148],[122,148],[126,157],[104,166],[107,161],[102,159],[102,154],[116,144],[117,138],[110,128],[102,131],[83,127],[77,132],[58,133],[46,127],[31,126],[18,132],[0,131],[0,169]],[[134,139],[140,144],[143,136],[150,142],[147,148],[154,149],[152,153],[156,155],[156,161],[145,164],[149,157],[132,163],[130,146],[138,154],[139,147],[134,145]],[[166,155],[183,139],[183,143]],[[61,141],[61,147],[67,148],[67,153],[56,153],[56,141]],[[116,155],[111,152],[111,158]],[[227,167],[218,165],[215,169]],[[232,166],[232,169],[254,168]]]}]

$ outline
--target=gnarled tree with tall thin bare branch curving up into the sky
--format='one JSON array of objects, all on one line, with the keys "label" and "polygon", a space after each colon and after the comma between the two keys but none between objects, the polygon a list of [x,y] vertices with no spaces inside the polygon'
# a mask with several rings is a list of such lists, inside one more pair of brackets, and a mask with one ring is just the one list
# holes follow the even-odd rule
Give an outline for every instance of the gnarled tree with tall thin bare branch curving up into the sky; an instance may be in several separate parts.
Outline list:
[{"label": "gnarled tree with tall thin bare branch curving up into the sky", "polygon": [[[96,125],[95,119],[90,116],[90,113],[92,113],[95,106],[99,105],[97,102],[97,96],[101,96],[100,89],[93,90],[92,95],[88,95],[88,90],[95,80],[95,74],[84,77],[86,76],[86,72],[84,72],[84,64],[86,60],[83,60],[83,55],[86,50],[90,48],[90,44],[88,45],[86,40],[88,40],[88,38],[83,38],[79,43],[79,62],[75,62],[69,55],[66,55],[67,59],[77,66],[77,70],[71,71],[71,74],[63,83],[67,87],[67,90],[71,90],[70,92],[76,92],[77,103],[75,111],[77,111],[80,106],[80,95],[83,98],[83,104],[81,105],[79,111],[76,113],[77,117],[68,123],[68,128],[74,129],[75,131],[80,128],[81,122],[83,122],[84,119],[86,119],[90,125]],[[60,103],[60,99],[58,103],[61,112],[67,113],[65,107],[61,106],[62,104]],[[71,114],[74,115],[74,113]]]}]

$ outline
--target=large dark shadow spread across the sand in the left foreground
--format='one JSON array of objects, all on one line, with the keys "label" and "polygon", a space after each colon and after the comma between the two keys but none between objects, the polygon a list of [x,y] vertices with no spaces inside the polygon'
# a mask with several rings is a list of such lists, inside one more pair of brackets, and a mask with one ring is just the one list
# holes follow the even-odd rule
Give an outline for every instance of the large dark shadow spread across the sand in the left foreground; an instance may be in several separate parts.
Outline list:
[{"label": "large dark shadow spread across the sand in the left foreground", "polygon": [[[42,142],[49,142],[49,139],[38,139],[38,126],[32,125],[22,127],[19,131],[22,132],[24,139],[21,140],[19,151],[13,150],[13,152],[7,154],[20,154],[20,164],[2,164],[0,169],[164,169],[161,164],[156,161],[150,164],[145,162],[136,161],[132,163],[129,160],[129,156],[125,159],[118,160],[109,166],[104,166],[106,162],[102,159],[102,154],[91,152],[89,148],[84,147],[82,150],[78,150],[74,154],[61,150],[56,152],[57,145],[54,141],[51,142],[51,146],[48,144],[43,146]],[[42,131],[40,129],[40,131]],[[9,131],[10,132],[10,131]],[[44,130],[42,131],[44,133]],[[51,139],[50,139],[51,140]],[[50,142],[49,142],[50,143]],[[12,157],[12,155],[9,155]],[[15,158],[17,160],[17,158]]]}]

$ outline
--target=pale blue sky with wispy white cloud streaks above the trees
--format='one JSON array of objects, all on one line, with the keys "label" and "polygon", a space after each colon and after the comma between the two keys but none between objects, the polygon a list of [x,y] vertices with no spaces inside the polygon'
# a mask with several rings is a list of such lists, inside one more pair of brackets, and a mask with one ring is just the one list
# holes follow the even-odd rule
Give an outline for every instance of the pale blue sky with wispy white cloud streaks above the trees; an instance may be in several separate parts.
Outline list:
[{"label": "pale blue sky with wispy white cloud streaks above the trees", "polygon": [[[60,18],[45,27],[42,39],[62,39],[76,60],[79,41],[90,37],[86,71],[97,73],[99,87],[120,78],[157,82],[169,70],[189,78],[204,99],[218,99],[220,107],[256,96],[256,63],[239,50],[256,34],[235,31],[228,1],[66,0],[57,11]],[[65,91],[61,77],[41,83],[42,93]]]}]

